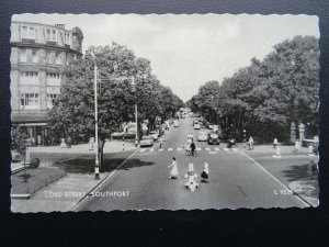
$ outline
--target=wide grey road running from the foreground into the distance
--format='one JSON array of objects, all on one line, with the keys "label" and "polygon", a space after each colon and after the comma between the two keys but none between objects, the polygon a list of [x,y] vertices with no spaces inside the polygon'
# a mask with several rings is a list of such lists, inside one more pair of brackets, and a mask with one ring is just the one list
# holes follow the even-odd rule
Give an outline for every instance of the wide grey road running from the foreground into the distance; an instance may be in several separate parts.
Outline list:
[{"label": "wide grey road running from the foreground into the distance", "polygon": [[[170,126],[154,147],[141,148],[129,157],[138,165],[123,166],[104,180],[94,197],[88,197],[77,207],[78,211],[112,210],[180,210],[180,209],[256,209],[256,207],[305,207],[308,206],[297,195],[285,191],[287,188],[261,167],[243,150],[227,149],[226,144],[209,146],[196,142],[200,149],[196,157],[185,156],[182,144],[189,133],[196,139],[202,128],[194,131],[194,117],[181,119],[180,127]],[[168,178],[171,158],[175,157],[181,179]],[[127,164],[128,161],[127,160]],[[209,164],[209,183],[202,183],[191,192],[184,188],[189,164],[194,165],[198,175],[203,160]],[[116,192],[116,193],[115,193]],[[283,192],[283,193],[282,193]]]}]

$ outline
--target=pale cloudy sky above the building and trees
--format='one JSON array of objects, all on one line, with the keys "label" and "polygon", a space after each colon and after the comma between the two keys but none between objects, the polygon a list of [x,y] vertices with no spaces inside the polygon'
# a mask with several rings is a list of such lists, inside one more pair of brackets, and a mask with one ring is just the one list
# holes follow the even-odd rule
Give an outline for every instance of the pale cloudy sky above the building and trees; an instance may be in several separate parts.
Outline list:
[{"label": "pale cloudy sky above the building and trees", "polygon": [[251,58],[262,60],[277,43],[320,36],[315,15],[16,14],[12,20],[79,26],[83,53],[91,45],[125,45],[149,59],[161,85],[183,101],[205,82],[222,82],[250,65]]}]

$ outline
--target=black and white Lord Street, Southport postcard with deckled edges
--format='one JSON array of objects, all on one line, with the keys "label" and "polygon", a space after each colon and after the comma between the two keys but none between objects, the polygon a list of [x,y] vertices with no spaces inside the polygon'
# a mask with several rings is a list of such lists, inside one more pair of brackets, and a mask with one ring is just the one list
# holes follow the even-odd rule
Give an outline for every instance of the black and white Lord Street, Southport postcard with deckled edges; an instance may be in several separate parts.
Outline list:
[{"label": "black and white Lord Street, Southport postcard with deckled edges", "polygon": [[319,206],[319,19],[14,14],[11,211]]}]

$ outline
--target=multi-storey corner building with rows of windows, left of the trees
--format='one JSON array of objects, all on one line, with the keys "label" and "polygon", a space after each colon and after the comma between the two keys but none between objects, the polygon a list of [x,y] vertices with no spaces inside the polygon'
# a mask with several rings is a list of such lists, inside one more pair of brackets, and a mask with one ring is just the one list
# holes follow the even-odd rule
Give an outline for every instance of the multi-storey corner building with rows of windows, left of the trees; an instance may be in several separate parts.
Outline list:
[{"label": "multi-storey corner building with rows of windows, left of the trees", "polygon": [[12,125],[20,125],[39,145],[48,141],[47,112],[60,94],[66,67],[82,56],[82,40],[79,27],[11,24]]}]

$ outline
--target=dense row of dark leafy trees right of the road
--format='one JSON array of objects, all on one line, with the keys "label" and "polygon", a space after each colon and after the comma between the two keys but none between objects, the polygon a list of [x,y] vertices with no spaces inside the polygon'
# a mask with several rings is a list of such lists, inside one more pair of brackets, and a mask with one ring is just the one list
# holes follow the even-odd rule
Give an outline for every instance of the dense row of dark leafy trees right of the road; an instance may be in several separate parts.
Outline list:
[{"label": "dense row of dark leafy trees right of the road", "polygon": [[236,138],[243,130],[259,141],[288,141],[294,122],[317,133],[319,45],[314,36],[295,36],[273,48],[264,59],[251,59],[230,78],[208,81],[186,104],[206,120],[219,123]]}]

